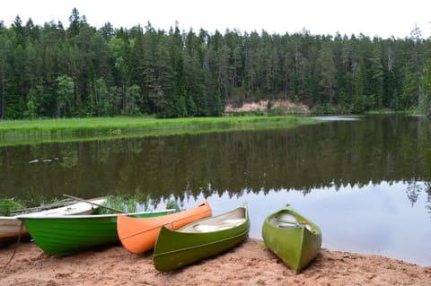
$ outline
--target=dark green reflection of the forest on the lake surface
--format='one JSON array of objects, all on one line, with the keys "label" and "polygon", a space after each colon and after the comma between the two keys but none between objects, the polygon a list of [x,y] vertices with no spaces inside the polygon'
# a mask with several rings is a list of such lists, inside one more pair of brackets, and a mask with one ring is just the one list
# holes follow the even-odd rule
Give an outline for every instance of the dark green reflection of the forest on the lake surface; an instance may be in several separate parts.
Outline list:
[{"label": "dark green reflection of the forest on the lake surface", "polygon": [[184,134],[0,148],[0,193],[91,197],[149,193],[238,196],[403,181],[431,196],[422,117],[375,116],[296,129]]}]

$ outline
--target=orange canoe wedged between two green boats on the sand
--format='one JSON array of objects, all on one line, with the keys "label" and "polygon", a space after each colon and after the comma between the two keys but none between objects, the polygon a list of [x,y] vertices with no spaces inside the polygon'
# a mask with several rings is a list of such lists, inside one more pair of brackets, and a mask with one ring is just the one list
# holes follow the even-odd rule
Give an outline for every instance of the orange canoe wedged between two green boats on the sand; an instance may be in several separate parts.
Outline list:
[{"label": "orange canoe wedged between two green boats on the sand", "polygon": [[178,230],[186,224],[212,215],[207,200],[197,207],[154,218],[134,218],[119,214],[117,232],[123,247],[132,253],[143,253],[154,247],[159,231],[164,225],[171,230]]}]

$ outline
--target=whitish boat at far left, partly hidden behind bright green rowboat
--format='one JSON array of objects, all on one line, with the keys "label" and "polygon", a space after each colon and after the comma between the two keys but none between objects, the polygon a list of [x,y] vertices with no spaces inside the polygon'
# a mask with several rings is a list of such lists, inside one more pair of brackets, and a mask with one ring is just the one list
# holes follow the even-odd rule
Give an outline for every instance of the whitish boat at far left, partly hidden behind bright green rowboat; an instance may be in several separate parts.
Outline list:
[{"label": "whitish boat at far left, partly hidden behind bright green rowboat", "polygon": [[[89,202],[95,204],[102,204],[104,198],[95,198]],[[76,214],[89,214],[98,208],[95,204],[88,204],[79,202],[76,204],[68,204],[57,208],[52,208],[40,212],[31,212],[23,214],[22,216],[52,216],[52,215],[76,215]],[[18,219],[18,216],[1,216],[0,217],[0,241],[12,240],[18,237],[28,236],[29,231],[25,225]]]}]

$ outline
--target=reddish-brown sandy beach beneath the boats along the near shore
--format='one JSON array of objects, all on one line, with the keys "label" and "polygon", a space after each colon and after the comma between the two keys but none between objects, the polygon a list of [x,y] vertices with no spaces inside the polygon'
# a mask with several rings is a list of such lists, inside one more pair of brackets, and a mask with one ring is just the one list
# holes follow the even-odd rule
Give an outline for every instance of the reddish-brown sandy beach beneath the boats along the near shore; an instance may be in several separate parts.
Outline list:
[{"label": "reddish-brown sandy beach beneath the boats along the near shore", "polygon": [[173,273],[155,270],[151,251],[134,255],[121,246],[65,257],[48,256],[31,242],[21,243],[13,256],[15,248],[0,248],[2,286],[431,285],[431,267],[325,248],[302,273],[295,274],[255,238]]}]

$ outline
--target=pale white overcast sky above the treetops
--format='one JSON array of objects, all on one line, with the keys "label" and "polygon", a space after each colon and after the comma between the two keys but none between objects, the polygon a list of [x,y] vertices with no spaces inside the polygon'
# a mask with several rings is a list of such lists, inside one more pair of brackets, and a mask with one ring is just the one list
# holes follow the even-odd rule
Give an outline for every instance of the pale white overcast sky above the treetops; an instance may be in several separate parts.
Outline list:
[{"label": "pale white overcast sky above the treetops", "polygon": [[423,38],[431,32],[431,0],[3,0],[0,21],[10,27],[19,15],[23,24],[31,18],[39,25],[61,21],[68,27],[74,7],[96,28],[106,22],[114,28],[151,22],[156,30],[169,30],[178,22],[185,31],[291,34],[306,29],[313,35],[362,33],[383,39],[409,37],[415,25]]}]

